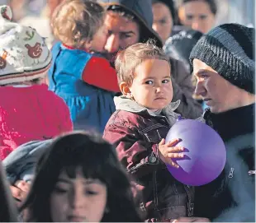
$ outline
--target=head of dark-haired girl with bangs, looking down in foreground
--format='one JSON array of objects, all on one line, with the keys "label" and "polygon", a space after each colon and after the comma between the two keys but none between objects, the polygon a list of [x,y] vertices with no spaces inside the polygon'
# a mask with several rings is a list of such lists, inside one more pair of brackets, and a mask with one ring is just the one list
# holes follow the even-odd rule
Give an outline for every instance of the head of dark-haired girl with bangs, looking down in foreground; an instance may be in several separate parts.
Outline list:
[{"label": "head of dark-haired girl with bangs, looking down in foreground", "polygon": [[26,211],[25,221],[141,221],[115,150],[85,132],[50,143],[21,211]]}]

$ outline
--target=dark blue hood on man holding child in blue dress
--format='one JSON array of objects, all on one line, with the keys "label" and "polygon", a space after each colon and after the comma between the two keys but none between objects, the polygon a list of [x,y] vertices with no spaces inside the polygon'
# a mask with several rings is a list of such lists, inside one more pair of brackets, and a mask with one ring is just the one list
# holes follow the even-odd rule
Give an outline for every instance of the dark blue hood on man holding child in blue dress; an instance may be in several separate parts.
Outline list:
[{"label": "dark blue hood on man holding child in blue dress", "polygon": [[142,42],[145,42],[148,39],[154,39],[156,41],[155,44],[159,48],[163,47],[161,38],[152,29],[153,12],[151,0],[99,0],[99,2],[101,2],[103,6],[107,7],[107,9],[115,5],[124,7],[124,9],[135,15],[136,18],[140,21],[140,24],[145,26],[145,31],[148,31],[148,33],[143,34],[147,38],[142,39]]}]

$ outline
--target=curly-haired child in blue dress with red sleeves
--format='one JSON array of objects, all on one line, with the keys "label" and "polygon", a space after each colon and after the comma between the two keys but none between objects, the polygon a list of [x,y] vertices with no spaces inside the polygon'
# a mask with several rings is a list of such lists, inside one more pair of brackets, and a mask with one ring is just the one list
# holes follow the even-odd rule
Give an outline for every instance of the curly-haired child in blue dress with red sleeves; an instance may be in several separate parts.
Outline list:
[{"label": "curly-haired child in blue dress with red sleeves", "polygon": [[99,53],[107,41],[105,11],[97,2],[64,1],[55,9],[52,28],[60,42],[52,49],[50,90],[69,106],[75,129],[103,132],[115,111],[116,71]]}]

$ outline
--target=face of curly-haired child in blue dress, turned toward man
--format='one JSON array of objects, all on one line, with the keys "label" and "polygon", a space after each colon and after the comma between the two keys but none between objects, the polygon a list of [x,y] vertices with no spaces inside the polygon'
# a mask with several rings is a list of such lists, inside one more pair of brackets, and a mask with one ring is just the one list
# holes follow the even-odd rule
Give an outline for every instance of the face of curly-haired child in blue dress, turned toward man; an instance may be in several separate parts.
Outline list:
[{"label": "face of curly-haired child in blue dress, turned toward man", "polygon": [[107,42],[107,28],[102,26],[93,36],[90,46],[90,51],[94,53],[102,53]]}]

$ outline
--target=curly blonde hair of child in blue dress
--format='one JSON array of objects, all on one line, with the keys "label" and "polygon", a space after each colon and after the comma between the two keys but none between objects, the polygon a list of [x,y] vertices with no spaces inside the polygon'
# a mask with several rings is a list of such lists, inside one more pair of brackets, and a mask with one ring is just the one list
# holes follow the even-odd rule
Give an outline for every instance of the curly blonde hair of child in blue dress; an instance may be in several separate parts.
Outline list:
[{"label": "curly blonde hair of child in blue dress", "polygon": [[105,10],[97,2],[65,0],[56,7],[51,26],[56,39],[71,47],[81,48],[103,25]]}]

